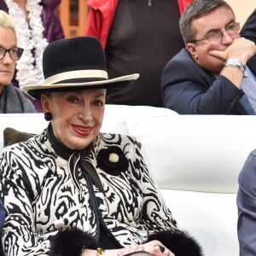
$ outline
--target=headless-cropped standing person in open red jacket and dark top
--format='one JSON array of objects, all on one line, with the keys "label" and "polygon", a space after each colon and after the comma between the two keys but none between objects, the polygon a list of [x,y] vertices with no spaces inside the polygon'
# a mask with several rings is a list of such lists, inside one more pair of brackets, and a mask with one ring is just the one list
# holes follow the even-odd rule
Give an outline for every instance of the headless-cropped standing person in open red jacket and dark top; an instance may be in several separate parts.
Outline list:
[{"label": "headless-cropped standing person in open red jacket and dark top", "polygon": [[160,77],[183,48],[178,20],[193,0],[89,0],[86,35],[102,42],[108,73],[140,73],[125,90],[107,90],[107,103],[163,107]]}]

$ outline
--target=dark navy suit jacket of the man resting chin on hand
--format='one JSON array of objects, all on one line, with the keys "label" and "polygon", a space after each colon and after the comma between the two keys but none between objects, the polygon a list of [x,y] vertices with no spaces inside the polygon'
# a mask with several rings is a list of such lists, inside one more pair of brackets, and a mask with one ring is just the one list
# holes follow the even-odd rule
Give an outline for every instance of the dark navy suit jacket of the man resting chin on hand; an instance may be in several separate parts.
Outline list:
[{"label": "dark navy suit jacket of the man resting chin on hand", "polygon": [[[256,74],[256,56],[247,62],[247,66]],[[248,114],[239,102],[243,91],[224,76],[216,77],[200,67],[186,49],[167,63],[161,90],[164,107],[177,113]]]}]

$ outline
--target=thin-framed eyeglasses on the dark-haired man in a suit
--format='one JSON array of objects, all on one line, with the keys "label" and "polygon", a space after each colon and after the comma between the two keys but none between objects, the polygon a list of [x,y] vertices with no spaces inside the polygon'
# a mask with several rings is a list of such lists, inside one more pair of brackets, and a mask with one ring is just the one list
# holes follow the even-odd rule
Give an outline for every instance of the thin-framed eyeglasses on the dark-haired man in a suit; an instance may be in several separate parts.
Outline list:
[{"label": "thin-framed eyeglasses on the dark-haired man in a suit", "polygon": [[207,43],[211,43],[214,41],[218,41],[218,39],[223,37],[223,33],[227,32],[230,36],[235,35],[240,30],[240,24],[237,22],[232,22],[230,25],[226,26],[224,30],[216,29],[207,33],[205,38],[196,39],[191,41],[190,43],[196,43],[199,41],[206,41]]}]

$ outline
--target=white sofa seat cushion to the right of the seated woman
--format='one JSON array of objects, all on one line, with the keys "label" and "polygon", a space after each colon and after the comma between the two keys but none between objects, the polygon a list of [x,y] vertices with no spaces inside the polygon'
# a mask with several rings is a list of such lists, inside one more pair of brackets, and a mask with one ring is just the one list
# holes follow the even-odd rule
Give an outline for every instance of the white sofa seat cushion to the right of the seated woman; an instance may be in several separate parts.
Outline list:
[{"label": "white sofa seat cushion to the right of the seated woman", "polygon": [[236,194],[161,189],[182,230],[201,243],[206,256],[238,256]]}]

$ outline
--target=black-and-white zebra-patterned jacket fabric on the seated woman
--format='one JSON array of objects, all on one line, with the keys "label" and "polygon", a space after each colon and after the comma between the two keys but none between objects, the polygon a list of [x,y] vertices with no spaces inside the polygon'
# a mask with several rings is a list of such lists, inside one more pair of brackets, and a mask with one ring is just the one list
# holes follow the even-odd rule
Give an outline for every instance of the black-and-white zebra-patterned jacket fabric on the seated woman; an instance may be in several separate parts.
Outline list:
[{"label": "black-and-white zebra-patterned jacket fabric on the seated woman", "polygon": [[[129,163],[119,173],[105,172],[97,163],[98,153],[111,147],[115,152],[118,147]],[[100,177],[103,193],[92,185],[98,209],[121,246],[142,243],[154,231],[176,229],[133,137],[100,134],[84,160]],[[2,238],[6,255],[48,255],[50,236],[71,227],[96,235],[90,186],[81,168],[72,173],[68,166],[46,131],[3,149],[0,191],[7,214]]]}]

